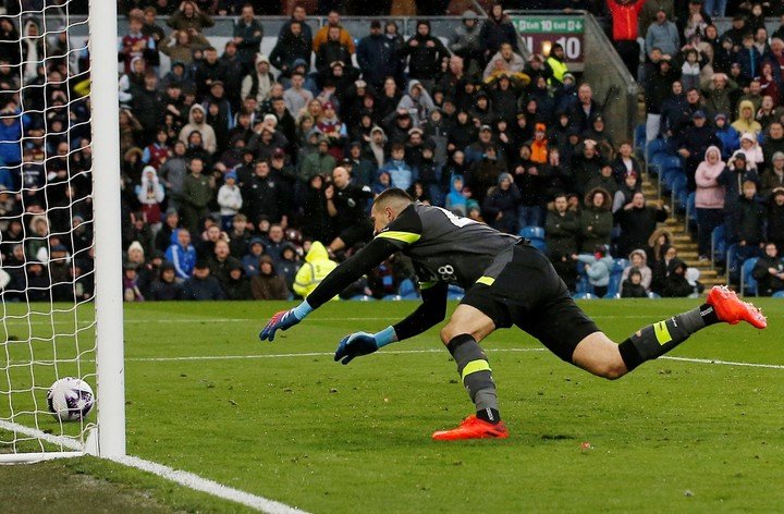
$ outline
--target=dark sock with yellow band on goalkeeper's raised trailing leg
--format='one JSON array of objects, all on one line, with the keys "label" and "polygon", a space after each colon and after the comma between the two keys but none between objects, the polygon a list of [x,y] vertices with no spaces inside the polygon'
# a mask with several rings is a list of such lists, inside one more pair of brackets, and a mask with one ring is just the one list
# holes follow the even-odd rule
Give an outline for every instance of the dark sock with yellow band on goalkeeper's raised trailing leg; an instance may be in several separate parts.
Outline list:
[{"label": "dark sock with yellow band on goalkeeper's raised trailing leg", "polygon": [[713,307],[700,305],[639,330],[618,345],[621,358],[626,369],[632,371],[640,364],[670,352],[698,330],[718,322],[719,317]]}]

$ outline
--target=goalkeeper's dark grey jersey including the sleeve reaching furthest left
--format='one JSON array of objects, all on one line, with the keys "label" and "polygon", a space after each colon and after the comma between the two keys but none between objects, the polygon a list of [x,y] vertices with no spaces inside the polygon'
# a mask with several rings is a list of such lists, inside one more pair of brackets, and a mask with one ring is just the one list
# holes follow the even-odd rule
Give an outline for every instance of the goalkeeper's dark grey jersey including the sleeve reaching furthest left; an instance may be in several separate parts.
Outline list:
[{"label": "goalkeeper's dark grey jersey including the sleeve reaching furthest left", "polygon": [[[417,201],[335,268],[307,302],[319,307],[395,252],[412,258],[422,290],[438,282],[468,290],[477,281],[495,279],[519,242],[516,235],[502,234],[483,223]],[[504,255],[509,258],[504,259]]]}]

